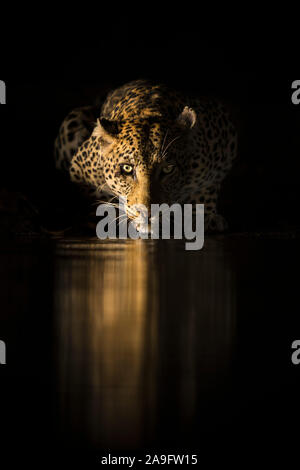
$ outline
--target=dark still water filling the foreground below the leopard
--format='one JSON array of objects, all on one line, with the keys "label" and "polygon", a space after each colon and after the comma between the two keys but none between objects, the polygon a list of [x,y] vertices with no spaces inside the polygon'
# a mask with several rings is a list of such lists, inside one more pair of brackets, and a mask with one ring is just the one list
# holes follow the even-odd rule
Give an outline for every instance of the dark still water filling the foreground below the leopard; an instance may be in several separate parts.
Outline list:
[{"label": "dark still water filling the foreground below the leopard", "polygon": [[270,463],[287,441],[290,456],[297,247],[219,236],[199,252],[173,240],[3,249],[3,450],[22,462],[173,449],[230,463],[238,449]]}]

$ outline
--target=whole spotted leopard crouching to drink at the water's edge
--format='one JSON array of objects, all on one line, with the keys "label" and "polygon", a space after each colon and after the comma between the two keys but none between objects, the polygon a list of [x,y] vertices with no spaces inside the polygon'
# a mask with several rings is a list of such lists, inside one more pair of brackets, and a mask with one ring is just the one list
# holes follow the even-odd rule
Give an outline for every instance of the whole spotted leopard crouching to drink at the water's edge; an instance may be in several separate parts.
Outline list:
[{"label": "whole spotted leopard crouching to drink at the water's edge", "polygon": [[[237,130],[224,103],[165,84],[134,80],[102,103],[73,109],[55,140],[55,165],[99,203],[204,204],[205,231],[228,229],[221,184],[237,155]],[[150,213],[150,212],[149,212]]]}]

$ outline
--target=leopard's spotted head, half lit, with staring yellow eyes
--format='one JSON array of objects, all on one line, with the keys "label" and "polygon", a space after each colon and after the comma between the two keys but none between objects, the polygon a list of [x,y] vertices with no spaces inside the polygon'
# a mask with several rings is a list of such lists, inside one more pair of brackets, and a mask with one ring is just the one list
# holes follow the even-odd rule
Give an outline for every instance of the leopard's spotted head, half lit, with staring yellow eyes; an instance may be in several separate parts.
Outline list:
[{"label": "leopard's spotted head, half lit, with staring yellow eyes", "polygon": [[196,113],[185,107],[177,119],[150,116],[121,122],[101,118],[93,136],[100,144],[106,184],[125,199],[130,219],[139,216],[136,205],[182,200],[188,186],[185,149],[196,124]]}]

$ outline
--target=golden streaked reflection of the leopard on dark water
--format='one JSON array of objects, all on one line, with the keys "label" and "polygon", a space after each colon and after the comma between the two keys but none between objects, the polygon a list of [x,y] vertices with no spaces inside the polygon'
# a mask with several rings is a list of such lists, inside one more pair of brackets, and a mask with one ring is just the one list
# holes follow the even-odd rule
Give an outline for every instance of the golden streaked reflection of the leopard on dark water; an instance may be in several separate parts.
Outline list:
[{"label": "golden streaked reflection of the leopard on dark water", "polygon": [[64,437],[134,448],[194,426],[230,366],[235,281],[222,245],[69,241],[56,260]]}]

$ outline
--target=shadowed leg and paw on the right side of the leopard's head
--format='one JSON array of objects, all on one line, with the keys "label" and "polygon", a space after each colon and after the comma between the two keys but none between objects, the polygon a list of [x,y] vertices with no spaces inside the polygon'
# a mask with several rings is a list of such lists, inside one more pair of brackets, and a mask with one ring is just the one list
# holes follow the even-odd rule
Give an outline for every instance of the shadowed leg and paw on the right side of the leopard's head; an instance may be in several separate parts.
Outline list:
[{"label": "shadowed leg and paw on the right side of the leopard's head", "polygon": [[219,184],[205,186],[185,199],[185,203],[204,204],[205,232],[224,232],[228,229],[226,220],[217,211],[219,191]]}]

